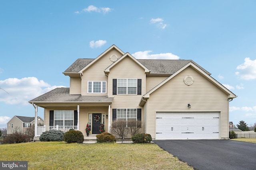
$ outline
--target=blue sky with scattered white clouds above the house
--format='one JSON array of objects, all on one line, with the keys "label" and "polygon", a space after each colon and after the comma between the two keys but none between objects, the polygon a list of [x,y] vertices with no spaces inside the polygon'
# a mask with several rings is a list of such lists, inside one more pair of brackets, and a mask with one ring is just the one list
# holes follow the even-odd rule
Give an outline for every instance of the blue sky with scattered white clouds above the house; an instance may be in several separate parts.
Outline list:
[{"label": "blue sky with scattered white clouds above the house", "polygon": [[34,116],[29,100],[69,87],[66,68],[113,44],[137,59],[192,59],[238,96],[229,120],[254,124],[255,6],[254,0],[2,0],[0,128],[14,115]]}]

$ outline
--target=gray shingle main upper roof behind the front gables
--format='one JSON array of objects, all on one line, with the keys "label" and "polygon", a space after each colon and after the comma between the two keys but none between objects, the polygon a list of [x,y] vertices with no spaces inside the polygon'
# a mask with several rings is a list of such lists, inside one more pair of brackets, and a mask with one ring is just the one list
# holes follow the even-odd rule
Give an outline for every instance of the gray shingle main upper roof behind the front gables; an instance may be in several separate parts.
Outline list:
[{"label": "gray shingle main upper roof behind the front gables", "polygon": [[[94,59],[77,59],[71,66],[68,67],[64,72],[74,72],[77,73],[82,68],[91,63]],[[138,59],[138,61],[143,64],[146,68],[150,70],[150,74],[174,74],[180,68],[192,62],[196,64],[199,68],[204,70],[210,75],[210,72],[206,71],[200,65],[192,60],[154,60],[154,59]],[[105,69],[105,68],[104,68]]]}]

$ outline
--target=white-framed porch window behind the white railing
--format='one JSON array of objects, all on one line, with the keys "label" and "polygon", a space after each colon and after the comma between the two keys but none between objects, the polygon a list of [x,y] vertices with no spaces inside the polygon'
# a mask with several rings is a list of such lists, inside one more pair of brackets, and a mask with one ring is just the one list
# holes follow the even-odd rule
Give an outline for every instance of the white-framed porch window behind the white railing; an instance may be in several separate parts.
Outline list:
[{"label": "white-framed porch window behind the white railing", "polygon": [[73,126],[74,110],[54,110],[54,125]]}]

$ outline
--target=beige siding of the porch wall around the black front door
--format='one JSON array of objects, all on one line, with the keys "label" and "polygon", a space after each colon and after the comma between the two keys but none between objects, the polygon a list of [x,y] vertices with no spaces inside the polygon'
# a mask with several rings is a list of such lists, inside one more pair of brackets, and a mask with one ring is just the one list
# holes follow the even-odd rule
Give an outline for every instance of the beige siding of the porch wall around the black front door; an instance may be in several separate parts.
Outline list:
[{"label": "beige siding of the porch wall around the black front door", "polygon": [[[66,108],[52,108],[52,109],[44,109],[44,123],[46,126],[49,126],[50,123],[50,110],[77,110],[77,107],[66,107]],[[79,106],[79,131],[86,136],[86,125],[89,122],[89,113],[102,113],[105,114],[105,131],[108,131],[108,119],[106,119],[106,115],[108,115],[108,106]],[[92,132],[90,132],[92,133]]]}]

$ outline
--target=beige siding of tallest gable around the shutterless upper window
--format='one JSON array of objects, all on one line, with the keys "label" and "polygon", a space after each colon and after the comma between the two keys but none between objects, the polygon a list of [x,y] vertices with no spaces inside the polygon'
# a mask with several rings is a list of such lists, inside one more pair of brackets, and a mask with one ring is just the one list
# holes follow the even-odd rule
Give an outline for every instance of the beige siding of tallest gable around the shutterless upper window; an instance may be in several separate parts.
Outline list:
[{"label": "beige siding of tallest gable around the shutterless upper window", "polygon": [[115,54],[118,58],[121,57],[121,53],[119,53],[116,49],[112,49],[106,55],[102,56],[96,63],[90,66],[83,72],[82,76],[82,96],[107,96],[108,95],[108,83],[106,88],[106,93],[88,93],[88,81],[108,81],[108,76],[105,75],[104,70],[113,64],[110,61],[110,56]]}]

